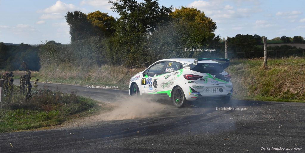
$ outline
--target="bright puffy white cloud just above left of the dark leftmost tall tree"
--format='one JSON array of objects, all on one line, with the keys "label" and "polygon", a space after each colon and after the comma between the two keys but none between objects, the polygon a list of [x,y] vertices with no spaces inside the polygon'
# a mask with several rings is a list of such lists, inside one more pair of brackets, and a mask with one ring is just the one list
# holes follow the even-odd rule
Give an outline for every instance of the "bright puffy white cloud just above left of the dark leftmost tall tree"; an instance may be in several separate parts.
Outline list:
[{"label": "bright puffy white cloud just above left of the dark leftmost tall tree", "polygon": [[57,1],[54,5],[44,9],[44,10],[38,10],[38,12],[45,12],[45,13],[64,13],[67,11],[73,11],[75,10],[75,5],[73,4],[66,4],[61,1]]}]

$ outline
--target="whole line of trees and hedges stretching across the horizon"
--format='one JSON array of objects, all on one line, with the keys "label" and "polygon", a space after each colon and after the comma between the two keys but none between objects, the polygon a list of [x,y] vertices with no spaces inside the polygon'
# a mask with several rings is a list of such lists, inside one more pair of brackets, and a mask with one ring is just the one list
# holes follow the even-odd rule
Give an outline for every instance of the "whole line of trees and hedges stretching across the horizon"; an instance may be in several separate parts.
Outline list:
[{"label": "whole line of trees and hedges stretching across the horizon", "polygon": [[[31,57],[26,61],[31,70],[39,70],[40,65],[62,63],[83,67],[106,63],[133,67],[165,58],[224,58],[224,41],[215,34],[216,23],[196,8],[182,6],[173,9],[172,6],[160,6],[158,0],[118,0],[110,3],[118,18],[100,11],[66,13],[71,36],[68,45],[55,41],[38,47],[22,44],[20,48],[0,44],[0,54],[6,55],[0,57],[0,69],[20,69],[20,63],[26,61],[25,57]],[[279,39],[304,42],[301,36],[282,36]],[[229,58],[264,56],[259,35],[238,34],[227,40]],[[270,56],[274,57],[304,56],[302,50],[292,46],[268,48],[286,49],[270,52]],[[186,51],[189,49],[208,49],[212,52]]]}]

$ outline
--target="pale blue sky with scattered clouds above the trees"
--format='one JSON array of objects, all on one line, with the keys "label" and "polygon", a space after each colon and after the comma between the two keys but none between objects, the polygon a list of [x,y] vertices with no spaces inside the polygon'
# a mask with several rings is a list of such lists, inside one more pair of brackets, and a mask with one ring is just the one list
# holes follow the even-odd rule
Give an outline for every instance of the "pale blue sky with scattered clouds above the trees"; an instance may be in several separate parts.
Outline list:
[{"label": "pale blue sky with scattered clouds above the trees", "polygon": [[[0,42],[42,44],[54,40],[70,43],[67,11],[112,12],[109,0],[0,0]],[[138,0],[140,2],[141,0]],[[179,9],[194,7],[216,22],[216,35],[258,34],[267,39],[283,35],[305,37],[304,0],[159,0]]]}]

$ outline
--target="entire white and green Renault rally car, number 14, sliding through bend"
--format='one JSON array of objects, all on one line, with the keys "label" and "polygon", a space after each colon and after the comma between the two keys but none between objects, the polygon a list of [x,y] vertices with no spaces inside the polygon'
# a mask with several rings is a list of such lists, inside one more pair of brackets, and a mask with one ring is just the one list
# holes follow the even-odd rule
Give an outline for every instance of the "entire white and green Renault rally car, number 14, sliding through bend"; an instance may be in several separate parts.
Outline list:
[{"label": "entire white and green Renault rally car, number 14, sliding through bend", "polygon": [[233,85],[224,71],[228,66],[228,59],[219,58],[159,60],[130,79],[129,95],[165,94],[176,107],[201,97],[229,101]]}]

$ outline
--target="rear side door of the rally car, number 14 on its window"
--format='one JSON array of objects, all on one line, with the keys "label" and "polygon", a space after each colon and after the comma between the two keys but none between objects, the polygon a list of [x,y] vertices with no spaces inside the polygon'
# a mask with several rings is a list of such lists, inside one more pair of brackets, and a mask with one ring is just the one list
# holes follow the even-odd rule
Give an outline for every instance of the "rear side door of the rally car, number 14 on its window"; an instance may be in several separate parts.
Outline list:
[{"label": "rear side door of the rally car, number 14 on its window", "polygon": [[183,66],[179,62],[167,61],[166,67],[163,70],[163,75],[159,76],[158,80],[160,86],[158,88],[159,93],[170,95],[170,90],[172,89],[174,82],[177,79],[178,70],[182,69]]}]

